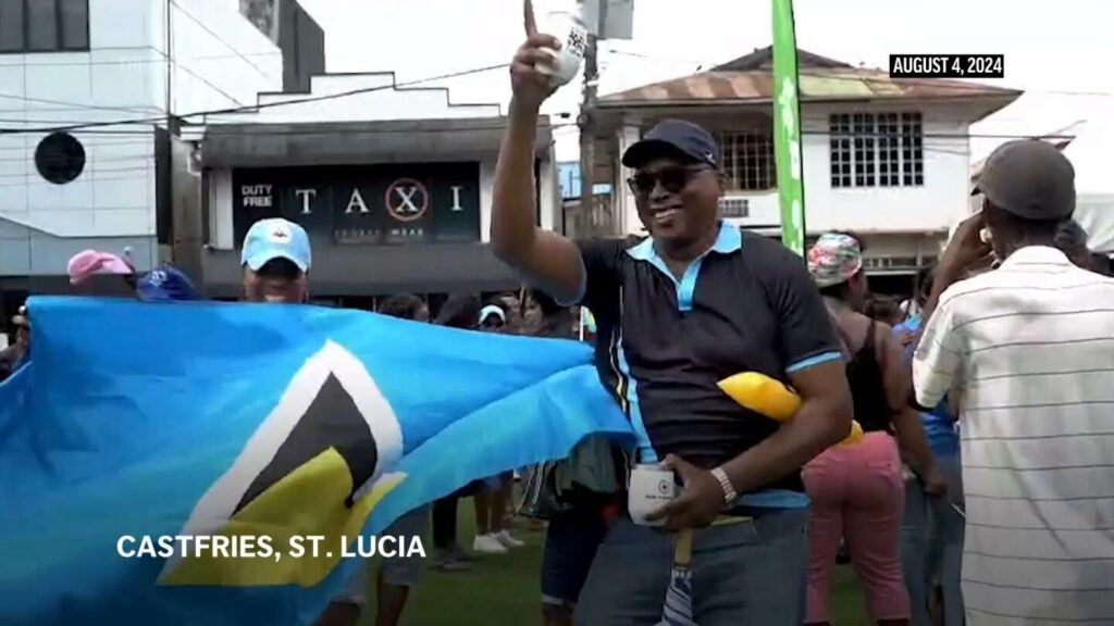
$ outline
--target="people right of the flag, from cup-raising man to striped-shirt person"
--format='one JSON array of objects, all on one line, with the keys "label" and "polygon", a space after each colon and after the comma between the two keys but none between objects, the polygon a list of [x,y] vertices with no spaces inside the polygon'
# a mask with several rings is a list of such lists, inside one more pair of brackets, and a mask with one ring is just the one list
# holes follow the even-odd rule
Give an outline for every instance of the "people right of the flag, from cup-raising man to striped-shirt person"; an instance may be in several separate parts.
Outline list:
[{"label": "people right of the flag, from cup-raising man to striped-shirt person", "polygon": [[[582,541],[588,565],[563,618],[827,624],[842,541],[872,623],[929,624],[931,607],[949,625],[1114,622],[1114,280],[1072,219],[1067,158],[1035,139],[999,146],[981,209],[916,297],[868,309],[853,235],[821,236],[801,263],[720,218],[720,150],[684,120],[659,121],[622,158],[647,237],[538,227],[531,150],[554,90],[538,67],[559,45],[527,18],[491,243],[592,311],[600,380],[637,436],[631,464],[683,485],[651,516],[666,532],[623,512],[602,537],[583,522],[599,541]],[[791,422],[721,392],[743,371],[791,385]],[[862,439],[838,446],[852,418]],[[545,566],[541,581],[546,593]]]}]

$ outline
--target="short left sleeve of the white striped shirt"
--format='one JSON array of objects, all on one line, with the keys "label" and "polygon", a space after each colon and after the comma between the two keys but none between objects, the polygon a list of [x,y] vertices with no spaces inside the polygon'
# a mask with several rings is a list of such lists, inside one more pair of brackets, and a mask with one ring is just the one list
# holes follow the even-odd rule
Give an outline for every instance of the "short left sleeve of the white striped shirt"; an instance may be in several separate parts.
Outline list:
[{"label": "short left sleeve of the white striped shirt", "polygon": [[912,385],[917,403],[936,407],[956,384],[964,365],[961,329],[957,329],[955,303],[940,299],[940,305],[925,324],[912,358]]}]

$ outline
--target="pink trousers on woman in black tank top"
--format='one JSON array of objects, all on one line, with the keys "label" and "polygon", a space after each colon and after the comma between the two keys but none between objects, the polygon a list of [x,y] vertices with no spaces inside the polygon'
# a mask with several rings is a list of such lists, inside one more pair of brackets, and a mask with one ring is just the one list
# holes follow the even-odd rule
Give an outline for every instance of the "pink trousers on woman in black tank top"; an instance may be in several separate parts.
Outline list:
[{"label": "pink trousers on woman in black tank top", "polygon": [[836,446],[804,468],[809,492],[808,624],[827,623],[840,538],[867,591],[871,623],[909,617],[901,574],[905,481],[893,438],[868,432],[854,446]]}]

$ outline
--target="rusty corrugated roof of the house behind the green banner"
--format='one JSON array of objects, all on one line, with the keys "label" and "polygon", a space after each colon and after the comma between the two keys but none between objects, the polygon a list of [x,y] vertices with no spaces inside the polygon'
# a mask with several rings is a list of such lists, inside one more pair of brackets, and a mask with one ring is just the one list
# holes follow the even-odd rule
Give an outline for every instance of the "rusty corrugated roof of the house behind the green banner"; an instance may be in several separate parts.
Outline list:
[{"label": "rusty corrugated roof of the house behind the green banner", "polygon": [[[1016,89],[959,80],[893,79],[879,69],[801,67],[802,100],[932,99],[1020,96]],[[636,87],[599,99],[602,107],[764,101],[773,98],[769,70],[712,70]]]}]

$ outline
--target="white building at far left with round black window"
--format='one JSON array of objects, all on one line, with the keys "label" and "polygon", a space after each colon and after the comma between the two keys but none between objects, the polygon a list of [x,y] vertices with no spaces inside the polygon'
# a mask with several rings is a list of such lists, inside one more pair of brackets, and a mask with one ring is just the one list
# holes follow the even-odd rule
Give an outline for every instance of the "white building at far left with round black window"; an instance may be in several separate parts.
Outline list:
[{"label": "white building at far left with round black window", "polygon": [[178,129],[323,70],[295,0],[0,0],[0,288],[89,247],[167,260],[199,189]]}]

